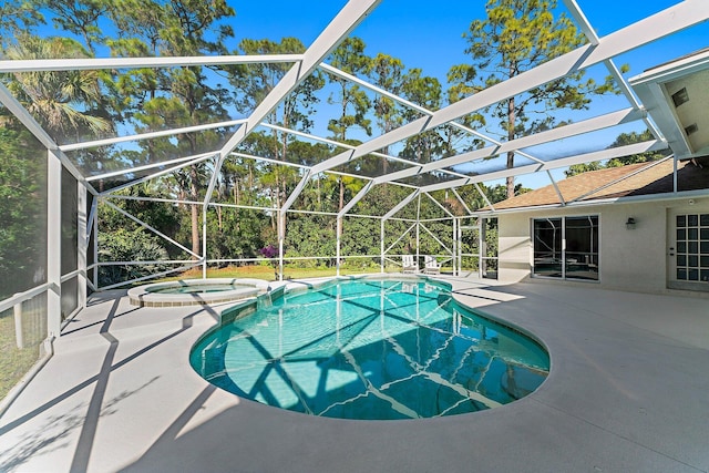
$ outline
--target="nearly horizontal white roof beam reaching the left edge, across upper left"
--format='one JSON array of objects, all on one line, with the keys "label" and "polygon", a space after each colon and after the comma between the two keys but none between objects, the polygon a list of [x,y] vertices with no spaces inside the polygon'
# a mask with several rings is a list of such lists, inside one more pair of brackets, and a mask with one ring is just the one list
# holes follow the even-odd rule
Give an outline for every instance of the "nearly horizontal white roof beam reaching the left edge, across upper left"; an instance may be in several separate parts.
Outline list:
[{"label": "nearly horizontal white roof beam reaching the left edge, across upper left", "polygon": [[300,62],[302,54],[196,55],[150,58],[27,59],[0,61],[0,72],[85,71],[105,69],[157,69],[196,65]]}]

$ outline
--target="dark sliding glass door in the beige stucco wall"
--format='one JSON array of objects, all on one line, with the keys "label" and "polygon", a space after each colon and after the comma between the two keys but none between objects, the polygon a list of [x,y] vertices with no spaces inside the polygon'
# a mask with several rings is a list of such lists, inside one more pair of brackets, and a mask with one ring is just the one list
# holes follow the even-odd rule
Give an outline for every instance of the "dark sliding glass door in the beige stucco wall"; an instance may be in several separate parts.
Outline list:
[{"label": "dark sliding glass door in the beige stucco wall", "polygon": [[534,276],[598,280],[598,216],[533,222]]}]

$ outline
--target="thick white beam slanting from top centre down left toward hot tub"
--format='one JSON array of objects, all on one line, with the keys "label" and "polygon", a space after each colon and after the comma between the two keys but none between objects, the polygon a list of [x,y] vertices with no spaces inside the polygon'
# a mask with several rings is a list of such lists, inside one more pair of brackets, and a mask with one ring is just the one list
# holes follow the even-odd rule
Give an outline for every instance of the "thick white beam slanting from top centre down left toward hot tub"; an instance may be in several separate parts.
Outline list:
[{"label": "thick white beam slanting from top centre down left toward hot tub", "polygon": [[[209,181],[204,204],[207,205],[212,198],[212,193],[216,186],[217,176],[224,160],[233,152],[239,143],[250,134],[260,122],[278,104],[291,93],[302,81],[305,81],[330,52],[381,2],[381,0],[349,1],[332,21],[325,28],[322,33],[302,54],[302,60],[295,64],[280,81],[271,89],[266,97],[256,106],[256,110],[248,117],[248,122],[242,125],[227,141],[219,152],[219,160],[214,168],[214,174]],[[305,186],[305,185],[304,185]],[[302,187],[300,186],[300,191]],[[290,197],[294,197],[292,195]],[[295,198],[288,198],[292,204]],[[295,196],[297,197],[297,195]],[[287,208],[286,208],[287,209]]]}]

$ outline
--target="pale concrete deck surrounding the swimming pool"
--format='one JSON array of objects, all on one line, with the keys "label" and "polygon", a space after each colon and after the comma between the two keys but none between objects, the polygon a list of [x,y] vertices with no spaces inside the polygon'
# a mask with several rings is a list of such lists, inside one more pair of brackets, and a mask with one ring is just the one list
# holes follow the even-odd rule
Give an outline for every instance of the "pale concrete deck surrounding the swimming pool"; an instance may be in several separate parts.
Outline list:
[{"label": "pale concrete deck surrounding the swimming pool", "polygon": [[552,370],[537,391],[441,419],[284,411],[189,367],[228,305],[137,308],[106,291],[0,418],[0,471],[709,471],[709,298],[441,279],[543,340]]}]

